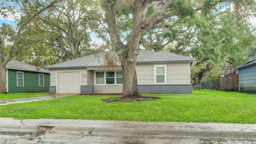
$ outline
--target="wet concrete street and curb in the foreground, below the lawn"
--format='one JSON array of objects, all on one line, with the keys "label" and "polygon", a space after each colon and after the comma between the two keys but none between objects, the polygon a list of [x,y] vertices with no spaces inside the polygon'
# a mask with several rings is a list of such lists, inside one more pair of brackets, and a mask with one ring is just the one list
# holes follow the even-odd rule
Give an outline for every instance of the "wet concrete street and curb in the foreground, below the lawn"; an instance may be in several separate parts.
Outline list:
[{"label": "wet concrete street and curb in the foreground, below the lawn", "polygon": [[255,124],[0,118],[0,143],[256,143]]}]

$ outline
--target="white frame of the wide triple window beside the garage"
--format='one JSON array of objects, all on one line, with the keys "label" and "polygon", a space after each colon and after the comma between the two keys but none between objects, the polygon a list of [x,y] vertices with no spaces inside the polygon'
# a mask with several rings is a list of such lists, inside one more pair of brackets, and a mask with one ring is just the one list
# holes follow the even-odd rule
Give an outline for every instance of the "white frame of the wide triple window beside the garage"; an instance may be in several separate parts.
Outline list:
[{"label": "white frame of the wide triple window beside the garage", "polygon": [[[94,70],[94,85],[123,85],[123,84],[117,84],[117,78],[121,78],[121,77],[117,77],[118,71],[120,71],[120,70],[105,70],[105,71]],[[97,84],[96,73],[98,73],[98,72],[104,73],[104,83],[103,84]],[[114,72],[114,77],[108,77],[108,78],[114,78],[114,84],[107,84],[107,72]]]}]

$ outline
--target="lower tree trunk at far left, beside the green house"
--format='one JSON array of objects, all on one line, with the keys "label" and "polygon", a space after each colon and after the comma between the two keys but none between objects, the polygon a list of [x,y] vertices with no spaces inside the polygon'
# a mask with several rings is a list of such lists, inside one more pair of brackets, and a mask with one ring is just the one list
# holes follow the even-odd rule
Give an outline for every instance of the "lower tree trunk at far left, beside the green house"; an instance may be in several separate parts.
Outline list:
[{"label": "lower tree trunk at far left, beside the green house", "polygon": [[0,93],[7,93],[6,92],[6,65],[4,62],[0,61]]}]

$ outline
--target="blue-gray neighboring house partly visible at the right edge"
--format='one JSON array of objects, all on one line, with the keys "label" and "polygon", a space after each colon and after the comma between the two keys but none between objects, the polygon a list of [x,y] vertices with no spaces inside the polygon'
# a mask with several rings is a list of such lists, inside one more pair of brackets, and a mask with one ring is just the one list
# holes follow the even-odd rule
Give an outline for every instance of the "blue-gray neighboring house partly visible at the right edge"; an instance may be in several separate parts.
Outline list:
[{"label": "blue-gray neighboring house partly visible at the right edge", "polygon": [[238,69],[239,91],[256,92],[256,58],[235,67]]}]

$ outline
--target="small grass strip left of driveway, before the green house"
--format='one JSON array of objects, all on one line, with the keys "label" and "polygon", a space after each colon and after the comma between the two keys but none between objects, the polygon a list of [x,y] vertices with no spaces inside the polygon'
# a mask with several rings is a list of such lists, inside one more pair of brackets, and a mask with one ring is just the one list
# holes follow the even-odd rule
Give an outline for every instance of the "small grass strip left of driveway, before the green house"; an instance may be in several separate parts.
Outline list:
[{"label": "small grass strip left of driveway, before the green house", "polygon": [[0,93],[0,101],[3,100],[13,100],[13,99],[23,99],[23,98],[31,98],[31,97],[42,97],[45,95],[49,95],[48,92],[34,92],[34,93]]}]

